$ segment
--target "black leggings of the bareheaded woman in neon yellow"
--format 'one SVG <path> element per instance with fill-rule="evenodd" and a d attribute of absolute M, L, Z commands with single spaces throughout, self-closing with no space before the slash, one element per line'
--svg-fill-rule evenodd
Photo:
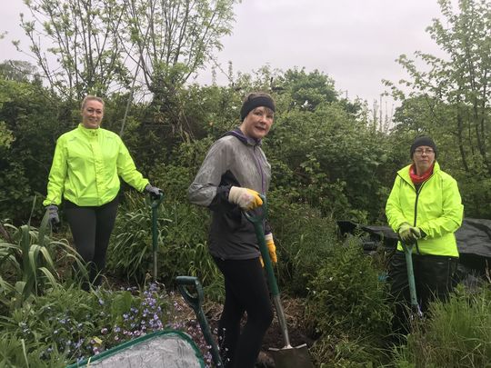
<path fill-rule="evenodd" d="M 89 265 L 89 282 L 101 283 L 105 267 L 105 253 L 115 225 L 117 197 L 101 206 L 79 206 L 65 201 L 65 215 L 70 224 L 78 254 Z M 88 289 L 88 284 L 83 283 Z"/>

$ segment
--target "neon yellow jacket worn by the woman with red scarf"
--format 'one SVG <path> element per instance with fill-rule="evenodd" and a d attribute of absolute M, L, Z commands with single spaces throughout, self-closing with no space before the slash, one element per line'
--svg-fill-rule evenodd
<path fill-rule="evenodd" d="M 456 180 L 435 163 L 433 174 L 416 193 L 407 165 L 397 172 L 396 181 L 387 199 L 386 216 L 397 232 L 401 224 L 419 227 L 426 237 L 417 241 L 414 252 L 458 257 L 454 233 L 462 224 L 464 206 Z M 402 251 L 401 244 L 397 250 Z"/>

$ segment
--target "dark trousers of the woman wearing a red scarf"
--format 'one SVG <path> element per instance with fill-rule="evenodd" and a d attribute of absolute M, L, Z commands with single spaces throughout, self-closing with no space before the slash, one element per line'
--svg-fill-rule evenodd
<path fill-rule="evenodd" d="M 446 255 L 413 254 L 416 296 L 421 311 L 426 312 L 429 302 L 434 299 L 446 301 L 452 291 L 453 276 L 458 258 Z M 394 321 L 395 333 L 408 333 L 407 308 L 410 305 L 409 283 L 407 282 L 406 256 L 397 251 L 392 257 L 389 269 L 391 294 L 396 301 Z"/>

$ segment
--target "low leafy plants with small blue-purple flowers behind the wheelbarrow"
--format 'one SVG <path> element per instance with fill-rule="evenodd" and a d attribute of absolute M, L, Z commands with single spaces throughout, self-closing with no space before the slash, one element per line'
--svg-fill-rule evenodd
<path fill-rule="evenodd" d="M 26 356 L 29 363 L 36 362 L 36 367 L 47 367 L 54 366 L 51 362 L 55 358 L 65 364 L 75 363 L 119 343 L 163 329 L 191 334 L 207 356 L 199 327 L 194 321 L 178 321 L 179 309 L 157 283 L 143 290 L 98 289 L 91 293 L 79 288 L 58 288 L 35 298 L 32 303 L 25 303 L 0 321 L 3 331 L 0 347 L 15 347 L 3 351 L 0 366 L 11 366 L 8 363 L 19 361 L 15 356 L 20 351 L 19 342 L 23 344 L 21 356 Z M 207 359 L 209 361 L 209 356 Z"/>

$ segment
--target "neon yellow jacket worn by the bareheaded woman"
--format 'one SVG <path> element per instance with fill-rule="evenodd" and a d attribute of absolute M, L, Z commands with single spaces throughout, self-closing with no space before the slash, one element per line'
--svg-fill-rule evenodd
<path fill-rule="evenodd" d="M 140 192 L 148 184 L 119 135 L 78 124 L 56 142 L 43 204 L 60 204 L 62 196 L 81 206 L 106 204 L 119 192 L 118 176 Z"/>

